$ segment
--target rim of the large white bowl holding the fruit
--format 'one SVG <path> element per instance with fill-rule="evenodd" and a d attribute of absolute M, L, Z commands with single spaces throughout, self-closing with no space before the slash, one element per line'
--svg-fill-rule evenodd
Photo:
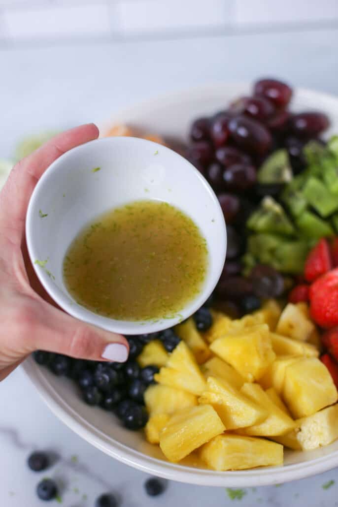
<path fill-rule="evenodd" d="M 109 125 L 113 121 L 117 123 L 120 121 L 120 118 L 125 118 L 130 113 L 134 114 L 136 110 L 141 111 L 146 107 L 155 107 L 161 104 L 163 100 L 165 100 L 166 103 L 170 103 L 176 101 L 178 98 L 184 100 L 186 97 L 191 98 L 192 95 L 198 97 L 201 93 L 221 93 L 226 89 L 233 89 L 234 87 L 238 88 L 239 92 L 242 93 L 245 92 L 249 86 L 250 82 L 244 81 L 216 81 L 214 83 L 197 85 L 194 87 L 185 87 L 172 92 L 164 92 L 156 95 L 154 98 L 136 101 L 132 105 L 117 110 L 106 122 L 98 122 L 98 126 L 99 128 L 105 128 L 106 124 Z M 296 87 L 294 89 L 294 96 L 306 96 L 311 99 L 322 98 L 326 101 L 334 102 L 338 111 L 338 96 L 333 94 Z M 123 122 L 125 122 L 125 120 L 123 120 Z M 279 467 L 253 468 L 241 472 L 215 472 L 214 470 L 193 468 L 162 461 L 147 456 L 142 452 L 130 449 L 117 441 L 114 441 L 112 445 L 110 437 L 106 436 L 97 428 L 94 428 L 62 400 L 61 396 L 44 377 L 41 367 L 33 361 L 32 357 L 28 357 L 21 366 L 25 375 L 37 388 L 46 405 L 70 429 L 75 431 L 80 437 L 91 443 L 97 449 L 102 450 L 106 454 L 129 466 L 141 469 L 148 474 L 150 473 L 165 479 L 201 486 L 254 487 L 304 479 L 327 472 L 327 470 L 338 465 L 338 451 L 334 451 L 328 456 L 321 456 L 301 463 Z M 109 445 L 107 445 L 108 440 L 110 441 Z"/>

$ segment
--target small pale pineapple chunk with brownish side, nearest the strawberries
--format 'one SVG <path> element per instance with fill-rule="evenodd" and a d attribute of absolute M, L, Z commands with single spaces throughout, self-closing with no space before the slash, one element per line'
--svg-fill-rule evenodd
<path fill-rule="evenodd" d="M 305 342 L 315 330 L 315 325 L 296 305 L 284 308 L 276 327 L 276 333 Z"/>

